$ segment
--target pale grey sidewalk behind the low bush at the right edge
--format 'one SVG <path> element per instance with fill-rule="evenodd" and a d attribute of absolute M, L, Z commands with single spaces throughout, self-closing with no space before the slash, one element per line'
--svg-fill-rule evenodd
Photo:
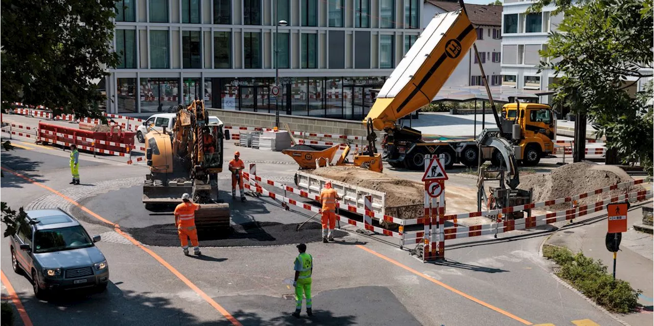
<path fill-rule="evenodd" d="M 608 221 L 606 212 L 598 212 L 583 219 L 575 219 L 574 224 L 557 225 L 547 244 L 568 247 L 573 252 L 582 251 L 587 257 L 601 259 L 613 272 L 613 253 L 606 250 L 605 237 Z M 585 221 L 585 222 L 584 222 Z M 642 209 L 632 208 L 627 215 L 628 231 L 623 233 L 620 251 L 617 253 L 615 277 L 628 281 L 634 289 L 643 291 L 640 313 L 621 316 L 630 325 L 652 325 L 654 323 L 654 236 L 634 230 L 634 223 L 642 221 Z"/>

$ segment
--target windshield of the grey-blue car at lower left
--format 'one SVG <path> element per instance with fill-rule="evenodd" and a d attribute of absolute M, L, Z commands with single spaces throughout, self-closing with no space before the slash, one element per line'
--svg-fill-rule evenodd
<path fill-rule="evenodd" d="M 51 230 L 37 230 L 34 234 L 35 253 L 48 253 L 92 246 L 93 242 L 80 225 L 67 228 L 53 228 Z"/>

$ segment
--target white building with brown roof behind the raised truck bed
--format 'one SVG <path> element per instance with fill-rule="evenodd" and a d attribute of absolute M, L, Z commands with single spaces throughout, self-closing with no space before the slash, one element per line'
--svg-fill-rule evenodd
<path fill-rule="evenodd" d="M 422 9 L 422 28 L 426 27 L 435 14 L 459 10 L 458 1 L 425 0 Z M 502 84 L 502 6 L 470 5 L 466 3 L 468 18 L 477 29 L 477 50 L 490 86 Z M 470 48 L 456 67 L 444 88 L 483 85 L 481 70 L 474 50 Z"/>

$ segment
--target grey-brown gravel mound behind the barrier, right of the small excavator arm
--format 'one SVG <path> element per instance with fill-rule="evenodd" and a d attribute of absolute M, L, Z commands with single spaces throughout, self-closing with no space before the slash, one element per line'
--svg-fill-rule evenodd
<path fill-rule="evenodd" d="M 552 170 L 549 174 L 521 176 L 520 189 L 533 189 L 533 202 L 576 196 L 617 183 L 632 181 L 627 172 L 617 166 L 577 162 Z M 629 187 L 628 192 L 643 190 L 639 185 Z M 579 200 L 579 205 L 593 204 L 606 198 L 625 194 L 625 189 L 615 189 Z M 569 203 L 549 206 L 549 210 L 570 208 Z"/>

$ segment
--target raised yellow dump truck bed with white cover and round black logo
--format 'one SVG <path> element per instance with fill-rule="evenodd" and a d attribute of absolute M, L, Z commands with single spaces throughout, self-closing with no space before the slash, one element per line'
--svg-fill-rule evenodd
<path fill-rule="evenodd" d="M 434 16 L 384 83 L 364 123 L 370 118 L 375 130 L 394 128 L 398 119 L 431 103 L 476 40 L 464 10 Z"/>

